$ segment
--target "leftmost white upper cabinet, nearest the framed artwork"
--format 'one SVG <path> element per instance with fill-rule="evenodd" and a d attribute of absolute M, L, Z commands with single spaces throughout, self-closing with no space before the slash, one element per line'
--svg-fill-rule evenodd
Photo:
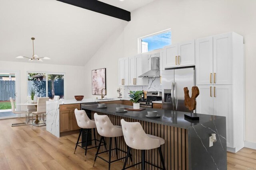
<path fill-rule="evenodd" d="M 128 86 L 129 79 L 129 58 L 118 59 L 118 84 Z"/>

